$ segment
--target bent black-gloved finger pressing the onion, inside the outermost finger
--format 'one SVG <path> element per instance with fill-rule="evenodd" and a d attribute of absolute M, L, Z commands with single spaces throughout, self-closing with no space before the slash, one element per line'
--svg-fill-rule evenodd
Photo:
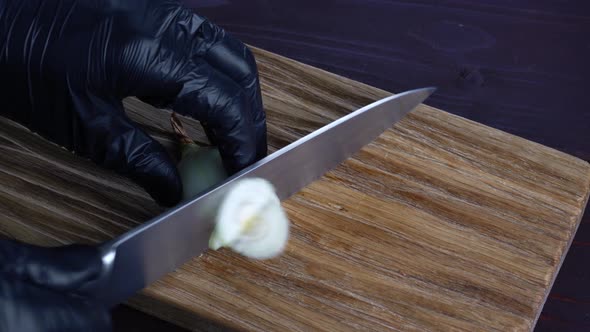
<path fill-rule="evenodd" d="M 174 111 L 201 122 L 217 145 L 226 170 L 233 174 L 256 161 L 256 131 L 250 103 L 232 79 L 202 59 L 192 61 L 182 79 Z"/>

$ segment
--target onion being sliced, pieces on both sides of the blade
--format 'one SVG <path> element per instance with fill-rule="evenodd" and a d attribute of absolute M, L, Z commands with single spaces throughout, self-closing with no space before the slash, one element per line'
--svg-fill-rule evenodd
<path fill-rule="evenodd" d="M 227 179 L 219 150 L 197 145 L 175 113 L 172 128 L 181 145 L 178 170 L 183 199 L 191 199 Z M 280 255 L 289 238 L 289 219 L 272 184 L 264 179 L 236 181 L 222 198 L 209 247 L 229 248 L 252 259 Z"/>

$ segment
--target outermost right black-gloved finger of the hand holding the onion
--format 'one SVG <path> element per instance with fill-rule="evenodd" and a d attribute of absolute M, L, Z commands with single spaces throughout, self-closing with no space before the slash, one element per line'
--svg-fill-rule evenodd
<path fill-rule="evenodd" d="M 193 50 L 193 58 L 203 58 L 244 90 L 250 103 L 250 116 L 256 131 L 257 158 L 265 157 L 267 154 L 266 114 L 262 104 L 254 55 L 245 44 L 208 20 L 201 24 L 195 37 L 198 46 Z"/>

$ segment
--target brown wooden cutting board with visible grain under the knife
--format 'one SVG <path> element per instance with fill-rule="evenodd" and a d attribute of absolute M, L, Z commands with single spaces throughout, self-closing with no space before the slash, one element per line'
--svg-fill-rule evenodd
<path fill-rule="evenodd" d="M 389 95 L 255 52 L 271 151 Z M 169 112 L 126 106 L 174 153 Z M 0 182 L 0 232 L 29 243 L 97 243 L 162 212 L 130 181 L 6 119 Z M 284 202 L 282 257 L 208 252 L 129 304 L 193 330 L 531 330 L 589 190 L 582 160 L 420 106 Z"/>

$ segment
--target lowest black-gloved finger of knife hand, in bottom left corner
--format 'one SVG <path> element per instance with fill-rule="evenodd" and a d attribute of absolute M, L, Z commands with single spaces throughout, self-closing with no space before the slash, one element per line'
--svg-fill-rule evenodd
<path fill-rule="evenodd" d="M 0 331 L 111 331 L 108 311 L 87 299 L 0 276 Z"/>

